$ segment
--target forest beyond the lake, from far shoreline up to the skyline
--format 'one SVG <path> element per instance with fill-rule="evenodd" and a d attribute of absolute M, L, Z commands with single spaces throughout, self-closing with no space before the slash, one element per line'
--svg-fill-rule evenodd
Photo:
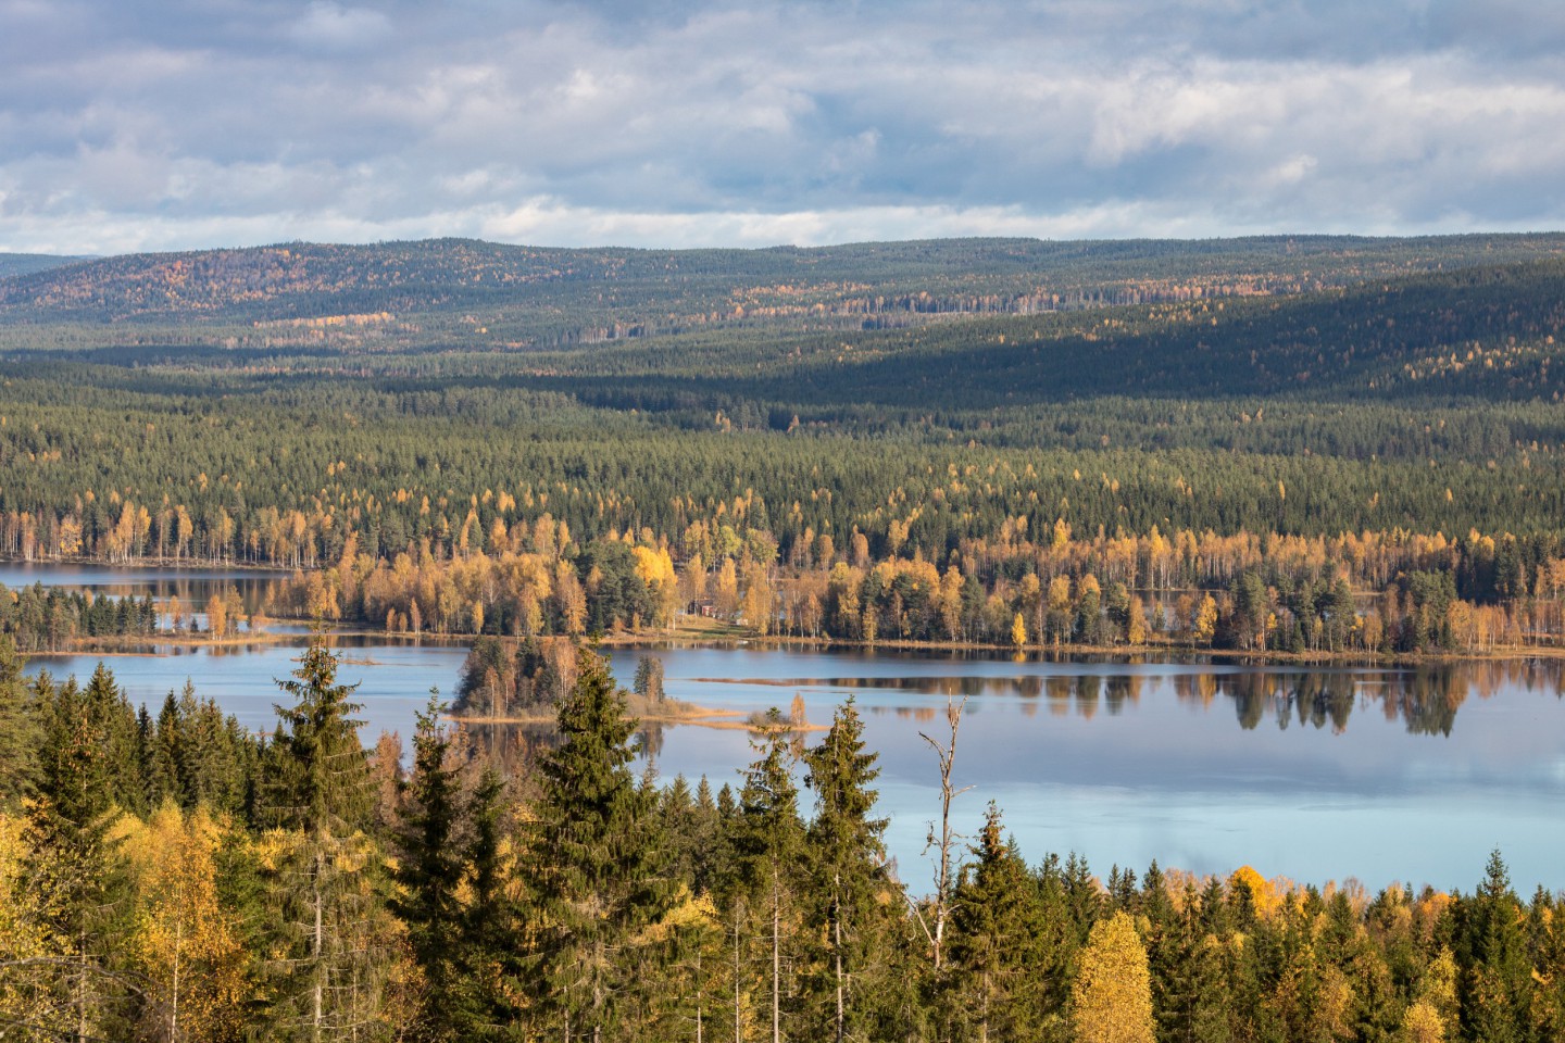
<path fill-rule="evenodd" d="M 277 613 L 394 630 L 1556 644 L 1562 246 L 64 264 L 0 278 L 0 554 L 300 569 Z M 610 305 L 635 336 L 582 335 Z"/>

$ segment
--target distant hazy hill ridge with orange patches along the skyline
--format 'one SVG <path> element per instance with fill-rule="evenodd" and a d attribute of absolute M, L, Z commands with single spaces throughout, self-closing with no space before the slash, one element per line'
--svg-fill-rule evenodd
<path fill-rule="evenodd" d="M 0 261 L 0 322 L 365 322 L 382 313 L 459 319 L 488 310 L 485 325 L 552 342 L 718 321 L 862 325 L 1302 292 L 1549 256 L 1565 256 L 1565 235 L 944 239 L 765 250 L 285 244 L 31 272 Z M 424 327 L 434 333 L 441 324 Z"/>

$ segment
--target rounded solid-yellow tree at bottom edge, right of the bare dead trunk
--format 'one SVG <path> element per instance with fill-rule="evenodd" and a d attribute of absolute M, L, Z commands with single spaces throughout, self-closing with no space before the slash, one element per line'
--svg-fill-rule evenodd
<path fill-rule="evenodd" d="M 1070 1023 L 1077 1043 L 1152 1043 L 1147 949 L 1125 913 L 1092 926 L 1075 984 Z"/>

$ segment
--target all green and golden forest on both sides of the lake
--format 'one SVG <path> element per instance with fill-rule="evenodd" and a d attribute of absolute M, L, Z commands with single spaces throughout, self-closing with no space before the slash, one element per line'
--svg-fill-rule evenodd
<path fill-rule="evenodd" d="M 1502 852 L 1368 893 L 992 807 L 909 884 L 851 702 L 654 785 L 592 641 L 1548 654 L 1560 338 L 1562 236 L 0 256 L 0 558 L 280 569 L 556 721 L 366 751 L 315 641 L 257 735 L 22 674 L 167 605 L 0 591 L 0 1037 L 1562 1040 Z"/>

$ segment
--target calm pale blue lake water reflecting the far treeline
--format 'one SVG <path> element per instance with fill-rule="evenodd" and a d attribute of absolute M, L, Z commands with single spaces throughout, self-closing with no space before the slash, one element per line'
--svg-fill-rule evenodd
<path fill-rule="evenodd" d="M 113 579 L 105 574 L 133 582 L 106 569 L 56 575 L 103 585 Z M 34 568 L 27 582 L 34 579 L 45 577 Z M 202 583 L 230 579 L 177 582 L 205 597 Z M 9 583 L 5 572 L 0 582 Z M 343 677 L 363 682 L 368 741 L 380 729 L 408 735 L 413 708 L 432 685 L 452 691 L 465 654 L 430 641 L 343 643 Z M 133 699 L 161 701 L 188 677 L 263 727 L 279 697 L 272 680 L 294 655 L 254 646 L 110 665 Z M 995 801 L 1033 862 L 1077 851 L 1100 874 L 1157 858 L 1197 873 L 1250 863 L 1297 880 L 1471 890 L 1498 846 L 1520 890 L 1565 887 L 1565 701 L 1554 663 L 1302 671 L 662 647 L 613 652 L 621 682 L 637 655 L 659 655 L 668 693 L 704 707 L 786 710 L 798 696 L 808 718 L 825 724 L 853 696 L 880 754 L 887 843 L 916 890 L 931 874 L 920 852 L 939 782 L 919 733 L 944 738 L 945 701 L 962 696 L 956 782 L 973 790 L 958 799 L 959 827 L 975 832 Z M 95 663 L 39 657 L 33 669 L 88 674 Z M 664 777 L 737 785 L 754 757 L 742 730 L 664 727 L 651 740 Z"/>

